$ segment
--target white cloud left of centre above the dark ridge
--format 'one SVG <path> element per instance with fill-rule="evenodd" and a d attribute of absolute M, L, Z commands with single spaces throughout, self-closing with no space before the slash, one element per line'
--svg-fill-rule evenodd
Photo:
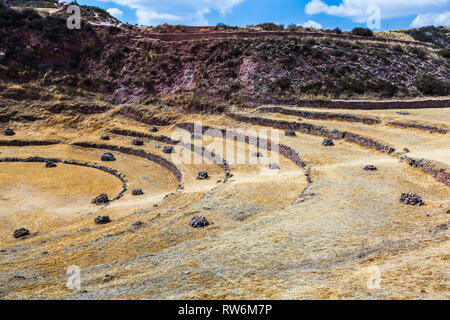
<path fill-rule="evenodd" d="M 206 25 L 212 10 L 224 15 L 245 0 L 101 0 L 112 1 L 136 10 L 137 23 Z"/>

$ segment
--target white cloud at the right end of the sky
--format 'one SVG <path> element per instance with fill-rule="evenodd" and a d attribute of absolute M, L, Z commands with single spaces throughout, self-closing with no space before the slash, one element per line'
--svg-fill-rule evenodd
<path fill-rule="evenodd" d="M 410 15 L 436 14 L 448 8 L 450 0 L 342 0 L 339 5 L 327 5 L 321 0 L 311 0 L 305 6 L 309 15 L 325 13 L 331 16 L 346 17 L 363 23 L 371 15 L 370 6 L 378 6 L 382 19 L 406 17 Z M 446 8 L 446 9 L 447 9 Z"/>

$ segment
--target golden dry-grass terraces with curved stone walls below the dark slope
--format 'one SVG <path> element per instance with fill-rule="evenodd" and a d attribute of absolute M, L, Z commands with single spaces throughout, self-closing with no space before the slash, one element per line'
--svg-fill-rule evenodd
<path fill-rule="evenodd" d="M 8 123 L 2 299 L 449 297 L 449 109 L 267 105 L 174 114 L 154 132 L 155 118 L 120 108 Z M 203 125 L 194 135 L 193 123 Z M 106 152 L 115 161 L 101 161 Z M 112 201 L 92 204 L 102 193 Z M 193 228 L 194 217 L 213 224 Z M 19 228 L 30 234 L 14 238 Z M 74 265 L 80 290 L 66 285 Z"/>

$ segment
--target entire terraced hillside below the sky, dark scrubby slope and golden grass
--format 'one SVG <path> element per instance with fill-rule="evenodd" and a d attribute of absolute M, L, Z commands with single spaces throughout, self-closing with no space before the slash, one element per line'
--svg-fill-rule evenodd
<path fill-rule="evenodd" d="M 0 299 L 450 298 L 441 29 L 91 9 L 0 4 Z"/>

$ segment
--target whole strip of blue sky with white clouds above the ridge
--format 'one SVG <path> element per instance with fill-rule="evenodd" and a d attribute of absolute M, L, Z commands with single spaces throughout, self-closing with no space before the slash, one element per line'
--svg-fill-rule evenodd
<path fill-rule="evenodd" d="M 450 25 L 450 0 L 78 0 L 110 12 L 123 22 L 158 25 L 245 26 L 264 22 L 350 30 L 406 29 Z M 367 10 L 370 9 L 370 12 Z M 380 21 L 377 25 L 375 22 Z"/>

